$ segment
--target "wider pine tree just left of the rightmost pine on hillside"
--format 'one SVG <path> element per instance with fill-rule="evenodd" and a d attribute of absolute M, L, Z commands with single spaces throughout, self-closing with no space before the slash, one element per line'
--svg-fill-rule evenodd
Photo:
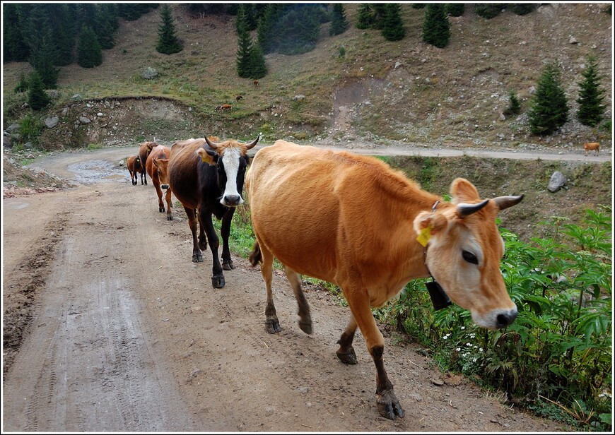
<path fill-rule="evenodd" d="M 561 87 L 560 71 L 554 64 L 545 66 L 528 112 L 529 131 L 548 135 L 566 124 L 568 103 Z"/>

